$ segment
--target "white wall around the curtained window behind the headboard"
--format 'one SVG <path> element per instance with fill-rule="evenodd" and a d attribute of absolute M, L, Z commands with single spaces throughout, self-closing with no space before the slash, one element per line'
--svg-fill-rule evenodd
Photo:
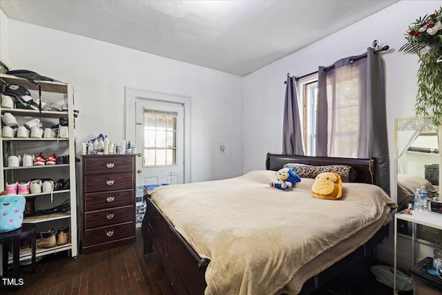
<path fill-rule="evenodd" d="M 408 25 L 420 16 L 434 12 L 439 6 L 441 1 L 400 1 L 244 77 L 243 170 L 263 169 L 267 153 L 282 151 L 282 112 L 287 73 L 301 76 L 314 72 L 318 66 L 329 66 L 340 58 L 360 55 L 374 39 L 378 39 L 382 46 L 390 46 L 390 50 L 382 55 L 385 60 L 387 130 L 393 176 L 394 118 L 414 115 L 418 69 L 417 56 L 398 53 L 398 49 L 405 44 L 404 33 Z M 287 30 L 287 38 L 296 38 L 296 30 Z M 395 198 L 393 177 L 391 184 L 392 197 Z M 385 260 L 392 263 L 392 235 L 384 244 Z M 403 247 L 408 244 L 405 242 Z M 404 249 L 402 253 L 410 252 Z M 431 253 L 427 255 L 432 256 Z"/>

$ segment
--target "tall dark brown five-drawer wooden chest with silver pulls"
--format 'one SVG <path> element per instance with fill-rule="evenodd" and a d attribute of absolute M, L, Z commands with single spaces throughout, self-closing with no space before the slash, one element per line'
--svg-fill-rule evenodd
<path fill-rule="evenodd" d="M 135 155 L 83 155 L 83 254 L 135 242 Z"/>

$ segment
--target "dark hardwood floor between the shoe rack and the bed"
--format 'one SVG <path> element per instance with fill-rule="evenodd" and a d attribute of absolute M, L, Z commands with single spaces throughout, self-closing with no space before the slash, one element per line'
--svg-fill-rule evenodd
<path fill-rule="evenodd" d="M 95 254 L 67 258 L 66 252 L 46 256 L 37 273 L 23 267 L 23 285 L 15 291 L 1 282 L 1 294 L 165 294 L 174 295 L 171 281 L 155 252 L 143 255 L 136 242 Z"/>

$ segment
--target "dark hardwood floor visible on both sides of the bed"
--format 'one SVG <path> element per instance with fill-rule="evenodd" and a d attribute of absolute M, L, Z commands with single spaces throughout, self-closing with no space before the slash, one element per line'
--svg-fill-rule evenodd
<path fill-rule="evenodd" d="M 143 255 L 141 232 L 135 244 L 95 254 L 68 258 L 66 252 L 37 262 L 37 273 L 22 267 L 23 285 L 12 290 L 0 282 L 1 294 L 164 294 L 174 295 L 173 286 L 155 252 Z M 362 260 L 312 295 L 390 295 L 393 289 L 378 283 L 369 272 L 370 261 Z M 401 292 L 402 295 L 412 292 Z"/>

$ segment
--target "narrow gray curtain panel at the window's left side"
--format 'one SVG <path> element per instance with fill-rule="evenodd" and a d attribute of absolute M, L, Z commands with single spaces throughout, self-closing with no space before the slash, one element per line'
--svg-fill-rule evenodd
<path fill-rule="evenodd" d="M 285 86 L 284 122 L 282 125 L 282 154 L 305 155 L 299 120 L 298 95 L 294 77 L 287 76 Z"/>

